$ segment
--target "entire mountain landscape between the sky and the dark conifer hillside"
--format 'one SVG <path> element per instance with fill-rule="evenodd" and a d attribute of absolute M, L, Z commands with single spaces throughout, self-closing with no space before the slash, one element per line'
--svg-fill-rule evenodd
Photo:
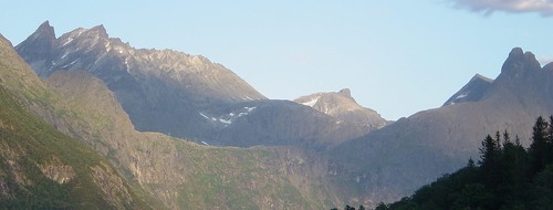
<path fill-rule="evenodd" d="M 553 113 L 553 65 L 520 48 L 497 78 L 390 122 L 351 90 L 269 99 L 207 57 L 135 49 L 103 25 L 56 36 L 46 21 L 0 44 L 0 202 L 13 208 L 376 207 L 478 158 L 495 130 L 528 146 Z"/>

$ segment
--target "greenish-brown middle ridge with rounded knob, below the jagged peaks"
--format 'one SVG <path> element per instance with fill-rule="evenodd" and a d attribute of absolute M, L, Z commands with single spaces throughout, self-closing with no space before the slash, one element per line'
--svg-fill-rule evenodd
<path fill-rule="evenodd" d="M 289 148 L 217 148 L 134 130 L 114 95 L 85 72 L 59 72 L 49 86 L 75 137 L 109 158 L 137 187 L 174 209 L 325 209 L 336 201 L 313 156 Z M 69 111 L 69 112 L 67 112 Z M 310 164 L 307 164 L 310 162 Z M 325 201 L 326 200 L 326 201 Z"/>

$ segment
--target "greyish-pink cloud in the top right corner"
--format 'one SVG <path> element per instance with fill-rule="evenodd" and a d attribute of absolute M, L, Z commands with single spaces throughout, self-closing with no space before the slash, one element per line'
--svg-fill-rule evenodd
<path fill-rule="evenodd" d="M 553 0 L 451 0 L 456 7 L 473 12 L 491 14 L 494 11 L 512 13 L 538 12 L 543 17 L 553 15 Z"/>

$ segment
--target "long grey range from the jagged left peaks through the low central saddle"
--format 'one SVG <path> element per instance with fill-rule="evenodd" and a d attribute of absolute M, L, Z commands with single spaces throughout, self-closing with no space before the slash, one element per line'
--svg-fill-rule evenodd
<path fill-rule="evenodd" d="M 364 127 L 378 127 L 384 120 L 374 113 L 374 119 L 361 122 L 361 127 L 336 124 L 335 116 L 267 99 L 230 70 L 206 57 L 134 49 L 109 38 L 103 25 L 56 38 L 46 21 L 15 50 L 41 77 L 56 71 L 84 70 L 101 78 L 138 130 L 197 143 L 325 149 L 364 135 Z"/>

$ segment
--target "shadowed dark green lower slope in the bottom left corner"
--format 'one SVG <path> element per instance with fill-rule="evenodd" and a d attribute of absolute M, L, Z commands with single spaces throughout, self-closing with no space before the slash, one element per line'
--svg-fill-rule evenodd
<path fill-rule="evenodd" d="M 122 185 L 109 164 L 80 141 L 30 114 L 0 86 L 0 206 L 8 209 L 147 208 Z M 50 168 L 49 168 L 50 167 Z M 94 169 L 104 183 L 98 183 Z M 109 186 L 112 187 L 112 186 Z M 123 193 L 127 192 L 127 193 Z"/>

